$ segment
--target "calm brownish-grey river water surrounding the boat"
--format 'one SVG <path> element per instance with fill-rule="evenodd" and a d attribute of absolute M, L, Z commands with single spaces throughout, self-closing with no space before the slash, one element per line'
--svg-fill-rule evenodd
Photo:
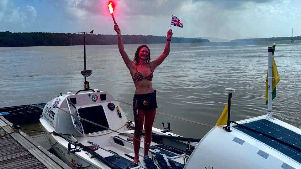
<path fill-rule="evenodd" d="M 215 125 L 228 100 L 224 89 L 230 87 L 235 89 L 231 120 L 266 114 L 267 48 L 272 43 L 171 44 L 170 55 L 155 70 L 152 81 L 157 90 L 157 110 Z M 281 80 L 273 101 L 275 117 L 300 128 L 301 44 L 276 44 Z M 138 46 L 125 45 L 131 59 Z M 148 46 L 151 60 L 164 48 L 164 44 Z M 87 78 L 90 87 L 131 103 L 135 87 L 117 45 L 90 45 L 86 49 L 87 69 L 93 70 Z M 76 92 L 84 86 L 80 73 L 84 69 L 83 46 L 72 46 L 72 59 L 70 46 L 0 48 L 0 63 L 0 107 L 48 102 L 59 93 Z M 133 119 L 131 106 L 120 106 Z M 182 136 L 202 138 L 210 130 L 162 115 L 156 115 L 154 127 L 162 128 L 161 122 L 168 121 L 172 132 Z"/>

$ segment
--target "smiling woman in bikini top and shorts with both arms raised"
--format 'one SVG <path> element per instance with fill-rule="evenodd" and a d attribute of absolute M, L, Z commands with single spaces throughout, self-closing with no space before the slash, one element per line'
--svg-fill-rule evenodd
<path fill-rule="evenodd" d="M 163 53 L 158 59 L 150 62 L 150 49 L 146 45 L 139 46 L 134 60 L 129 59 L 126 54 L 121 39 L 121 32 L 119 26 L 114 25 L 114 30 L 118 35 L 118 49 L 124 60 L 124 63 L 129 69 L 132 75 L 136 90 L 133 102 L 133 112 L 135 118 L 135 135 L 134 138 L 140 140 L 143 120 L 145 118 L 144 130 L 145 138 L 144 141 L 148 144 L 144 144 L 144 155 L 148 156 L 148 150 L 150 148 L 151 141 L 151 130 L 153 122 L 155 120 L 157 101 L 156 101 L 156 90 L 153 89 L 151 80 L 153 79 L 153 72 L 156 67 L 159 66 L 163 60 L 168 56 L 170 51 L 170 41 L 172 37 L 172 30 L 169 29 L 167 32 L 166 45 Z M 138 112 L 137 112 L 138 111 Z M 134 139 L 134 162 L 138 163 L 139 160 L 139 149 L 140 141 Z M 147 157 L 145 157 L 147 158 Z"/>

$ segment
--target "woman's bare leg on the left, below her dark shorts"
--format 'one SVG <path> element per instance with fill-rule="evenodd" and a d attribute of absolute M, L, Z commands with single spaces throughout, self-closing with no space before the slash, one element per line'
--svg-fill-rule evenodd
<path fill-rule="evenodd" d="M 145 115 L 145 111 L 138 109 L 138 126 L 135 126 L 135 128 L 136 127 L 139 128 L 139 131 L 138 131 L 139 135 L 136 136 L 134 134 L 134 141 L 133 141 L 134 142 L 134 153 L 135 153 L 134 162 L 135 163 L 138 163 L 138 160 L 139 160 L 140 141 L 138 141 L 138 140 L 140 140 L 140 138 L 141 138 L 141 133 L 142 133 L 142 129 L 143 129 L 144 115 Z M 136 139 L 138 139 L 138 140 L 136 140 Z"/>

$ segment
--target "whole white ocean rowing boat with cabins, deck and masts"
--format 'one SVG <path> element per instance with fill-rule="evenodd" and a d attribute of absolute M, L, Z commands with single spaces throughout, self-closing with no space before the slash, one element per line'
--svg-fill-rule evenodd
<path fill-rule="evenodd" d="M 268 50 L 268 84 L 272 86 L 273 50 L 271 47 Z M 82 74 L 88 77 L 92 71 L 85 70 Z M 171 133 L 170 129 L 162 131 L 153 127 L 149 156 L 155 168 L 149 168 L 142 160 L 143 144 L 140 161 L 138 164 L 132 162 L 135 125 L 126 118 L 114 97 L 107 91 L 86 87 L 88 85 L 76 94 L 68 93 L 50 100 L 40 118 L 42 129 L 49 133 L 45 134 L 47 141 L 72 168 L 301 168 L 301 130 L 272 117 L 270 88 L 268 115 L 237 122 L 230 121 L 230 100 L 234 90 L 227 89 L 227 125 L 215 126 L 201 141 L 181 137 Z M 79 93 L 81 91 L 86 93 Z M 143 137 L 141 141 L 144 141 Z"/>

